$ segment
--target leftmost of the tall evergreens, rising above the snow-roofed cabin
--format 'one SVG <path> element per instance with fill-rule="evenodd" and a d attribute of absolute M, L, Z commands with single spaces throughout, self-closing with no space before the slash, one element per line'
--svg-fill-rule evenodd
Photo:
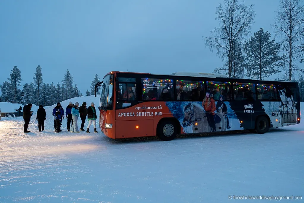
<path fill-rule="evenodd" d="M 9 102 L 18 103 L 21 97 L 21 90 L 19 90 L 18 88 L 18 86 L 20 86 L 20 83 L 22 81 L 21 71 L 19 70 L 19 68 L 17 68 L 17 66 L 14 66 L 9 76 L 10 76 L 10 78 L 8 78 L 8 80 L 10 81 Z"/>

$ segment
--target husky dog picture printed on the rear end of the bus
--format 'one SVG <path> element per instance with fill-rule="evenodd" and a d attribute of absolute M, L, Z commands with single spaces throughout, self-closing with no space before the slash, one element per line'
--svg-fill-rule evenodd
<path fill-rule="evenodd" d="M 281 98 L 281 108 L 280 108 L 280 124 L 283 123 L 296 123 L 297 122 L 297 109 L 296 103 L 293 100 L 293 96 L 286 96 L 286 89 L 279 90 L 279 95 Z"/>

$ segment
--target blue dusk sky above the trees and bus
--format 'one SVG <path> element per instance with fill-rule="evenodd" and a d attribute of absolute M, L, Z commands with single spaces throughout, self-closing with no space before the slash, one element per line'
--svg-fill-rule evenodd
<path fill-rule="evenodd" d="M 224 62 L 202 36 L 219 26 L 219 3 L 223 0 L 0 1 L 0 83 L 15 65 L 22 86 L 33 82 L 37 65 L 46 83 L 61 83 L 69 69 L 83 94 L 95 74 L 102 79 L 109 71 L 212 72 Z M 252 35 L 261 27 L 273 33 L 279 1 L 245 1 L 250 4 L 256 12 Z"/>

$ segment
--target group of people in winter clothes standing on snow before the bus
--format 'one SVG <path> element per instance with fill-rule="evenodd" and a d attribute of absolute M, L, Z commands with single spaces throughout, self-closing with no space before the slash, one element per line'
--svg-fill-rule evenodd
<path fill-rule="evenodd" d="M 23 119 L 24 119 L 24 132 L 29 133 L 28 131 L 28 125 L 30 118 L 32 116 L 31 108 L 32 104 L 29 103 L 26 106 L 23 107 Z M 91 103 L 91 106 L 87 108 L 87 103 L 82 103 L 82 105 L 79 107 L 79 103 L 76 102 L 73 104 L 73 102 L 69 102 L 69 105 L 65 109 L 65 115 L 64 115 L 64 109 L 61 106 L 60 102 L 57 103 L 57 106 L 54 107 L 52 115 L 54 117 L 54 130 L 55 133 L 59 133 L 62 130 L 60 129 L 60 126 L 62 125 L 62 120 L 64 120 L 64 117 L 67 119 L 67 131 L 69 132 L 80 132 L 85 131 L 84 125 L 86 117 L 88 117 L 88 127 L 86 132 L 90 133 L 89 128 L 93 123 L 94 126 L 94 132 L 97 133 L 96 128 L 96 109 L 94 102 Z M 81 118 L 81 127 L 80 131 L 78 129 L 78 117 Z M 37 110 L 37 116 L 36 120 L 38 121 L 38 130 L 44 131 L 44 121 L 46 120 L 46 111 L 43 108 L 43 106 L 40 104 L 39 109 Z M 71 127 L 70 127 L 71 126 Z"/>

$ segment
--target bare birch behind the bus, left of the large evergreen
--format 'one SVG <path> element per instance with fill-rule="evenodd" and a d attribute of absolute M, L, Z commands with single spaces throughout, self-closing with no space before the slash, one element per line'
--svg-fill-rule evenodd
<path fill-rule="evenodd" d="M 217 50 L 217 55 L 222 60 L 228 61 L 226 72 L 229 78 L 233 76 L 233 49 L 240 47 L 245 41 L 245 37 L 250 34 L 250 29 L 254 23 L 255 13 L 253 5 L 249 7 L 240 4 L 237 0 L 225 0 L 224 6 L 219 4 L 216 8 L 216 20 L 219 20 L 220 27 L 210 31 L 213 37 L 202 37 L 206 41 L 206 46 Z M 226 65 L 224 65 L 226 66 Z"/>

